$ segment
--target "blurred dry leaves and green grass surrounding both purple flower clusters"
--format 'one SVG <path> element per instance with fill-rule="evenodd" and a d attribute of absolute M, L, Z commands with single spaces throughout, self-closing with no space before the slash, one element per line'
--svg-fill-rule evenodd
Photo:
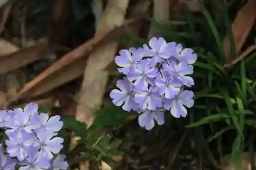
<path fill-rule="evenodd" d="M 0 1 L 0 103 L 62 116 L 70 169 L 255 169 L 254 0 Z M 195 50 L 195 106 L 151 131 L 113 106 L 113 59 L 151 37 Z"/>

